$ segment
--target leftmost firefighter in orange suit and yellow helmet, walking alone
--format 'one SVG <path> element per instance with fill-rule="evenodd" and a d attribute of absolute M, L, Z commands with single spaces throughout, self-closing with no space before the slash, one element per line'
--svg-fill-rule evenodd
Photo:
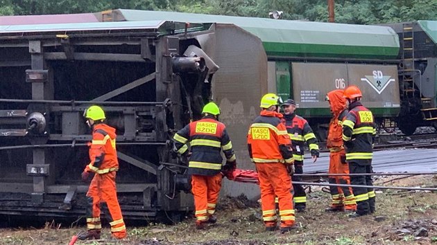
<path fill-rule="evenodd" d="M 115 175 L 119 170 L 117 152 L 115 150 L 115 129 L 103 123 L 105 112 L 101 107 L 93 105 L 85 110 L 83 115 L 87 125 L 92 128 L 92 142 L 89 145 L 89 158 L 91 162 L 82 173 L 83 181 L 87 181 L 90 173 L 94 177 L 87 192 L 88 207 L 87 233 L 78 239 L 100 239 L 101 232 L 101 203 L 108 206 L 110 212 L 110 226 L 112 237 L 123 239 L 126 237 L 126 226 L 115 186 Z"/>

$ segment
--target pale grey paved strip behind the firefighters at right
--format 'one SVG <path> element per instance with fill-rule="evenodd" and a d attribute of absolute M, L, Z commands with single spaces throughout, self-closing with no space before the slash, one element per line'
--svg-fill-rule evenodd
<path fill-rule="evenodd" d="M 309 156 L 304 161 L 304 172 L 327 172 L 329 153 L 320 154 L 316 163 Z M 375 172 L 436 172 L 436 149 L 392 149 L 374 152 L 372 166 Z"/>

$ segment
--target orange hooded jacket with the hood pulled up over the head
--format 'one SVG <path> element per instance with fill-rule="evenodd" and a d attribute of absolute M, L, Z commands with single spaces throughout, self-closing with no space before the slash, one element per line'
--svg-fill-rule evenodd
<path fill-rule="evenodd" d="M 343 120 L 348 116 L 346 99 L 343 98 L 343 90 L 336 89 L 327 93 L 332 118 L 329 122 L 329 132 L 326 147 L 331 152 L 339 152 L 343 149 Z"/>

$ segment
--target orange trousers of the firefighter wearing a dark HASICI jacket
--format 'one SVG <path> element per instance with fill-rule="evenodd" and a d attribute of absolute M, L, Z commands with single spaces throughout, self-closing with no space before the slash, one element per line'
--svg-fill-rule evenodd
<path fill-rule="evenodd" d="M 196 206 L 196 223 L 208 221 L 209 216 L 216 212 L 222 179 L 221 173 L 213 176 L 191 175 L 191 192 L 194 195 L 194 206 Z"/>

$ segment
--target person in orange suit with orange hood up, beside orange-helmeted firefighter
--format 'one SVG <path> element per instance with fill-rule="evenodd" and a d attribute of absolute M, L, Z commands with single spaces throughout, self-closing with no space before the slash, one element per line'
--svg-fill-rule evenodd
<path fill-rule="evenodd" d="M 343 90 L 330 91 L 327 93 L 326 100 L 329 102 L 332 113 L 326 144 L 329 149 L 329 174 L 349 174 L 349 164 L 346 162 L 342 138 L 343 119 L 348 115 Z M 350 177 L 348 175 L 329 176 L 329 183 L 350 185 Z M 357 210 L 352 188 L 330 186 L 329 189 L 331 190 L 332 203 L 331 207 L 326 209 L 327 212 Z"/>

